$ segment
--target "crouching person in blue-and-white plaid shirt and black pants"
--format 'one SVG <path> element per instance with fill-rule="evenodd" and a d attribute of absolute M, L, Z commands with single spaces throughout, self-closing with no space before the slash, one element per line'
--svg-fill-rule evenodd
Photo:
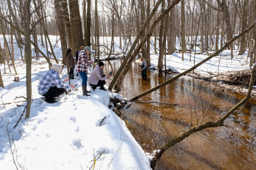
<path fill-rule="evenodd" d="M 52 69 L 48 71 L 38 84 L 38 93 L 44 96 L 44 101 L 47 103 L 55 103 L 55 97 L 64 94 L 65 89 L 73 89 L 74 85 L 65 85 L 64 82 L 68 78 L 61 80 L 60 75 L 64 65 L 53 64 Z"/>

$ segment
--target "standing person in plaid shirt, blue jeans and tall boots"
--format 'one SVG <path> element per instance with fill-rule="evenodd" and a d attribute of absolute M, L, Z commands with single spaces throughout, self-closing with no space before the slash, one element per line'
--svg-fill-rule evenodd
<path fill-rule="evenodd" d="M 93 64 L 93 60 L 91 59 L 88 61 L 89 54 L 91 53 L 90 47 L 84 47 L 84 50 L 80 51 L 78 62 L 76 66 L 76 72 L 79 73 L 82 79 L 82 91 L 84 96 L 90 96 L 90 91 L 87 91 L 87 74 L 88 74 L 88 67 Z"/>

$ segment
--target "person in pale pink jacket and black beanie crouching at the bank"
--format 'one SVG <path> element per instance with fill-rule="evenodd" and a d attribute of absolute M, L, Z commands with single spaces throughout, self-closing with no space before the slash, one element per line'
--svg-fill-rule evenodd
<path fill-rule="evenodd" d="M 108 74 L 108 76 L 104 75 L 104 63 L 102 61 L 99 62 L 99 65 L 96 65 L 93 72 L 90 74 L 90 77 L 88 79 L 88 83 L 91 86 L 93 90 L 95 90 L 97 87 L 100 87 L 101 90 L 106 90 L 104 88 L 104 85 L 106 84 L 105 80 L 111 77 L 112 74 Z"/>

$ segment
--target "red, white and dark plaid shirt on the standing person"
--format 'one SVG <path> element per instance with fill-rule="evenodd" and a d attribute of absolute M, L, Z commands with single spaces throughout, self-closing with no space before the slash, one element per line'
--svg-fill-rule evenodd
<path fill-rule="evenodd" d="M 91 62 L 88 61 L 86 52 L 84 50 L 81 51 L 78 57 L 77 65 L 76 65 L 76 73 L 78 73 L 79 71 L 88 73 L 88 67 L 90 66 L 90 64 Z"/>

